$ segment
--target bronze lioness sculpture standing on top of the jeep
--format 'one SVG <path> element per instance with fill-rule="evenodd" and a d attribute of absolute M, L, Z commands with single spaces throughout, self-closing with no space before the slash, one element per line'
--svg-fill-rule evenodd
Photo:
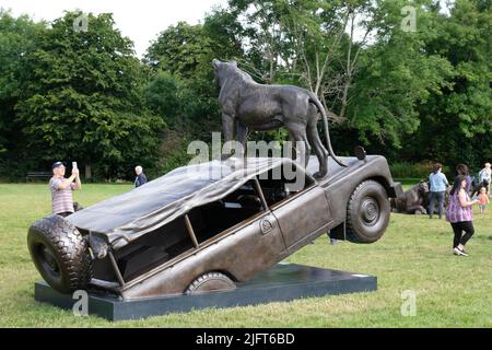
<path fill-rule="evenodd" d="M 215 81 L 221 88 L 219 103 L 222 110 L 224 141 L 231 141 L 234 126 L 237 128 L 237 141 L 245 147 L 249 130 L 270 130 L 284 126 L 290 139 L 296 141 L 298 155 L 304 158 L 305 166 L 313 148 L 319 171 L 315 177 L 325 177 L 328 173 L 328 154 L 341 166 L 331 148 L 328 118 L 321 103 L 312 92 L 293 85 L 265 85 L 237 68 L 235 61 L 212 61 Z M 319 139 L 316 127 L 318 113 L 323 117 L 327 149 Z"/>

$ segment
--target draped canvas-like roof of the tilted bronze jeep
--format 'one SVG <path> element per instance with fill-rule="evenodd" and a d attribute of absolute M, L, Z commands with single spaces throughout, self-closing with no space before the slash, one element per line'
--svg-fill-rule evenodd
<path fill-rule="evenodd" d="M 248 158 L 178 167 L 126 194 L 69 217 L 82 230 L 103 233 L 114 248 L 159 229 L 179 215 L 233 192 L 247 180 L 279 165 L 285 158 Z M 292 167 L 291 167 L 292 168 Z M 297 171 L 304 172 L 301 167 Z"/>

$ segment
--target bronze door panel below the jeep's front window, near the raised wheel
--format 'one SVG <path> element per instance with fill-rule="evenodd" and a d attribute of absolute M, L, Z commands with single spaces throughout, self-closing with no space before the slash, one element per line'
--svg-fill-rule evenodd
<path fill-rule="evenodd" d="M 271 208 L 288 249 L 332 220 L 325 191 L 313 185 Z"/>

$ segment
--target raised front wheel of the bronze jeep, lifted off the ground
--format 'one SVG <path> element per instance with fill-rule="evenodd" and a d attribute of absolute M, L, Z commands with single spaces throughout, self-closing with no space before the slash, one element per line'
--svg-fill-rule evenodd
<path fill-rule="evenodd" d="M 382 237 L 389 223 L 390 206 L 384 187 L 375 180 L 359 184 L 347 207 L 347 240 L 373 243 Z"/>

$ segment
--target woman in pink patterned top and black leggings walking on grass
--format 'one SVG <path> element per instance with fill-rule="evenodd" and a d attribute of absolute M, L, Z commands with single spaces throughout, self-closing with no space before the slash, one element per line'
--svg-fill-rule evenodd
<path fill-rule="evenodd" d="M 446 220 L 449 221 L 455 237 L 453 240 L 453 254 L 468 256 L 465 245 L 475 233 L 472 206 L 478 200 L 470 200 L 465 190 L 467 179 L 464 175 L 455 178 L 453 188 L 449 192 L 449 206 L 446 209 Z"/>

